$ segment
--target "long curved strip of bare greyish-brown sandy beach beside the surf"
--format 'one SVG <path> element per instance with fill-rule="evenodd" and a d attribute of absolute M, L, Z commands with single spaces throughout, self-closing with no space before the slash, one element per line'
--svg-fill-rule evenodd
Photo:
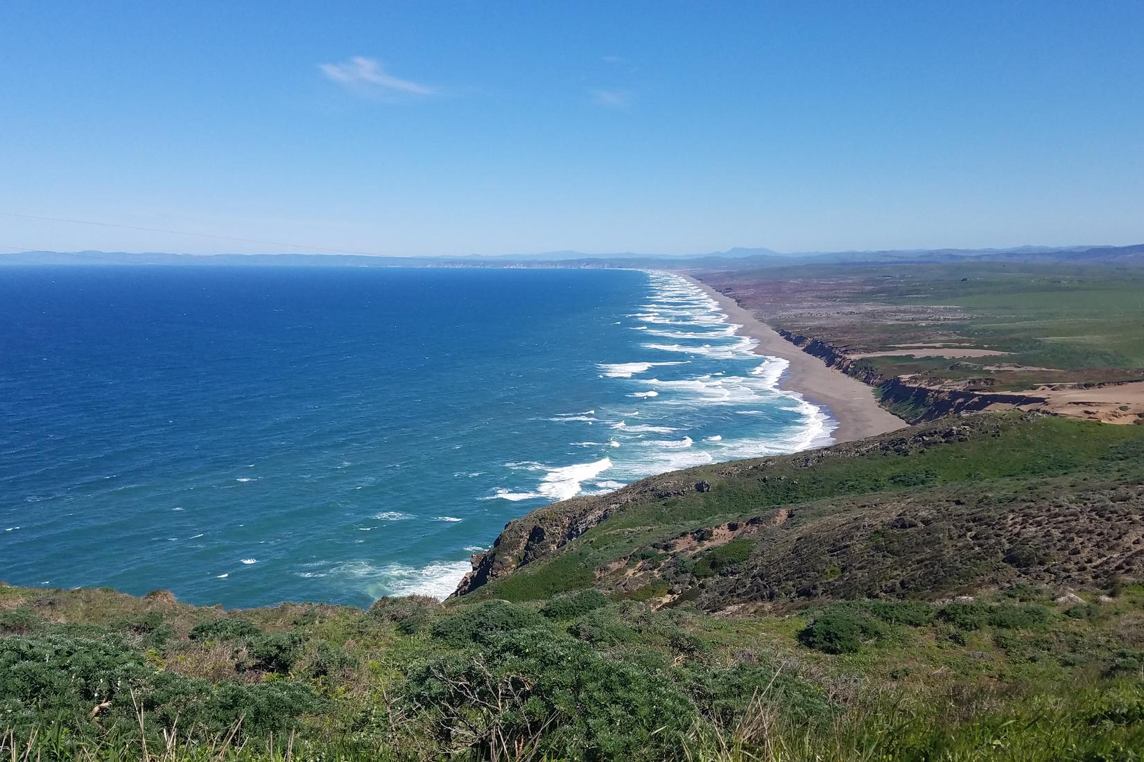
<path fill-rule="evenodd" d="M 755 353 L 781 358 L 791 363 L 779 380 L 779 388 L 796 392 L 809 402 L 825 407 L 826 412 L 839 424 L 832 434 L 835 443 L 852 442 L 909 425 L 879 406 L 874 399 L 874 390 L 869 386 L 828 368 L 818 358 L 791 344 L 731 297 L 720 294 L 688 273 L 676 271 L 675 274 L 715 299 L 728 319 L 739 326 L 737 336 L 747 336 L 758 342 L 754 347 Z"/>

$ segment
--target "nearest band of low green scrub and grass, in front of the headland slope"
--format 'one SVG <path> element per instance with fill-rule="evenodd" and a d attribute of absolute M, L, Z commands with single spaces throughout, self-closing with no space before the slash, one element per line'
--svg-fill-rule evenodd
<path fill-rule="evenodd" d="M 1144 588 L 1118 593 L 712 617 L 582 591 L 221 616 L 0 587 L 0 745 L 172 762 L 1131 760 Z"/>

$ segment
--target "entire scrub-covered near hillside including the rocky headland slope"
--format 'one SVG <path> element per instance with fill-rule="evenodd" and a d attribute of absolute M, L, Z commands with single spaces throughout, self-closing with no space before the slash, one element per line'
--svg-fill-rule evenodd
<path fill-rule="evenodd" d="M 3 753 L 1139 759 L 1142 468 L 960 418 L 555 504 L 445 604 L 0 587 Z"/>

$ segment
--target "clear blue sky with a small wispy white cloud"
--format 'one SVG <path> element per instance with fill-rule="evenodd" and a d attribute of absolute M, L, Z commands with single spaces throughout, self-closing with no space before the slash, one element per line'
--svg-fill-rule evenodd
<path fill-rule="evenodd" d="M 9 0 L 0 211 L 389 255 L 1141 242 L 1142 33 L 1136 0 Z"/>

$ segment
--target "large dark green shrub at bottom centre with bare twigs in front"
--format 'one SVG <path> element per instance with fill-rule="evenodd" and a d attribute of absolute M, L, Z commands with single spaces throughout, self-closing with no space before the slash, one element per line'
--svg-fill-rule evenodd
<path fill-rule="evenodd" d="M 668 680 L 548 629 L 415 666 L 402 708 L 438 743 L 507 757 L 651 762 L 677 753 L 694 709 Z"/>

